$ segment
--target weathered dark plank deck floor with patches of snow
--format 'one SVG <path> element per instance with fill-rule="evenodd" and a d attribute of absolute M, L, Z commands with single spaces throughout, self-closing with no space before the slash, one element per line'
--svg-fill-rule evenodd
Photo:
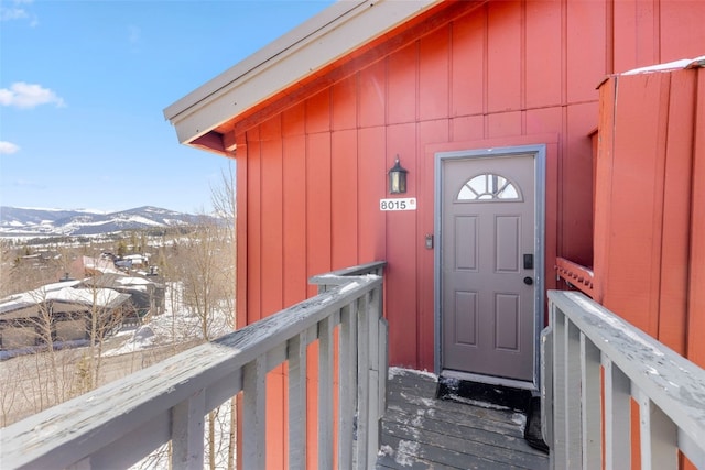
<path fill-rule="evenodd" d="M 435 398 L 431 374 L 392 369 L 377 469 L 549 468 L 523 439 L 525 416 Z"/>

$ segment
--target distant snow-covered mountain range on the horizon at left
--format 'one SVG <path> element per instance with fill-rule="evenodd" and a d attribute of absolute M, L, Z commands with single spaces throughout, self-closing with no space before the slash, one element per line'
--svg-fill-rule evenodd
<path fill-rule="evenodd" d="M 177 227 L 200 216 L 144 206 L 119 212 L 0 206 L 0 237 L 90 236 L 123 230 Z"/>

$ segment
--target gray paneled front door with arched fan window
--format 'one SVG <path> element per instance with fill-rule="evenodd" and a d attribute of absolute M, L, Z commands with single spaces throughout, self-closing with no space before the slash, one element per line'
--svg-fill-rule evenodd
<path fill-rule="evenodd" d="M 533 381 L 534 155 L 441 163 L 442 369 Z"/>

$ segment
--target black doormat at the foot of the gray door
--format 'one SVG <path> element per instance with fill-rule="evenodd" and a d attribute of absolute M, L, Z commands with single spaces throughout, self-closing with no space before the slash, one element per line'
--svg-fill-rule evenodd
<path fill-rule="evenodd" d="M 436 398 L 468 405 L 494 405 L 513 409 L 527 415 L 524 439 L 534 449 L 549 452 L 541 436 L 541 400 L 531 391 L 501 385 L 490 385 L 441 375 L 436 387 Z"/>

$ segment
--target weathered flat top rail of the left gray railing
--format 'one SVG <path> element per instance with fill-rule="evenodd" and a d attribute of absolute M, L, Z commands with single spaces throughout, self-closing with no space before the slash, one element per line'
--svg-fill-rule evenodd
<path fill-rule="evenodd" d="M 382 283 L 375 275 L 346 281 L 276 315 L 8 426 L 0 436 L 2 459 L 22 467 L 51 452 L 52 467 L 63 468 L 91 455 L 119 437 L 106 423 L 122 433 L 139 428 Z"/>

